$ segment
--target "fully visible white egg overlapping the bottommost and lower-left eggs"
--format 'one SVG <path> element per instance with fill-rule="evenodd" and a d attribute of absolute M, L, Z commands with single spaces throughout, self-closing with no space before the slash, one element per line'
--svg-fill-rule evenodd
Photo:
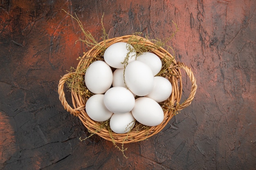
<path fill-rule="evenodd" d="M 104 104 L 113 113 L 121 114 L 132 110 L 135 104 L 133 94 L 124 87 L 112 87 L 104 95 Z"/>

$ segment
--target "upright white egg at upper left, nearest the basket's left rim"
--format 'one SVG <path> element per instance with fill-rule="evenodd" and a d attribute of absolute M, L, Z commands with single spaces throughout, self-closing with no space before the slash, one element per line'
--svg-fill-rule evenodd
<path fill-rule="evenodd" d="M 108 64 L 95 61 L 85 72 L 85 86 L 94 94 L 105 93 L 112 85 L 113 73 Z"/>

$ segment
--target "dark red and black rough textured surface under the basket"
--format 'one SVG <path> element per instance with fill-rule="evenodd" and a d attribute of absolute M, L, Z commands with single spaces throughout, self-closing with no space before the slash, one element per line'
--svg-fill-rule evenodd
<path fill-rule="evenodd" d="M 167 45 L 192 69 L 197 93 L 157 135 L 125 144 L 128 159 L 97 135 L 80 141 L 87 129 L 58 99 L 59 79 L 90 49 L 62 9 L 98 42 L 103 13 L 110 38 L 180 29 Z M 0 169 L 255 170 L 255 9 L 254 0 L 2 0 Z"/>

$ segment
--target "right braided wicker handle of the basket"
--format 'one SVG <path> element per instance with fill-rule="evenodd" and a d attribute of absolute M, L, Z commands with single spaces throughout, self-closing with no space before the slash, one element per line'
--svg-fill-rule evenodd
<path fill-rule="evenodd" d="M 175 106 L 175 110 L 182 110 L 183 108 L 186 108 L 187 106 L 189 106 L 191 104 L 192 100 L 194 99 L 195 92 L 196 92 L 196 89 L 197 89 L 197 84 L 196 84 L 196 79 L 194 77 L 194 74 L 191 71 L 191 68 L 189 68 L 188 66 L 186 66 L 184 63 L 181 63 L 181 62 L 177 63 L 177 67 L 182 68 L 184 71 L 186 71 L 186 74 L 189 76 L 189 79 L 190 79 L 191 84 L 192 84 L 191 92 L 189 94 L 189 97 L 182 104 L 177 104 Z"/>

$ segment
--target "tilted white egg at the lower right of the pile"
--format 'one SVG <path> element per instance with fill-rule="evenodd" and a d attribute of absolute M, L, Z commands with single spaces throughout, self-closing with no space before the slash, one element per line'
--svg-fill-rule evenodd
<path fill-rule="evenodd" d="M 164 120 L 164 111 L 153 99 L 139 97 L 135 100 L 132 116 L 146 126 L 157 126 Z"/>

